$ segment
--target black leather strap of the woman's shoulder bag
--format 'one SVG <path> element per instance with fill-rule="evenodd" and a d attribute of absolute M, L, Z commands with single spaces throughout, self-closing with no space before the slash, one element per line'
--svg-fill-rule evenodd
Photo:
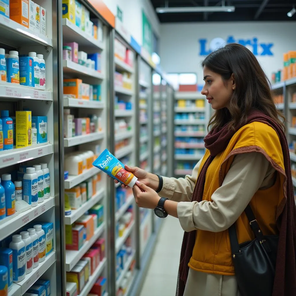
<path fill-rule="evenodd" d="M 259 227 L 259 224 L 255 218 L 255 215 L 252 211 L 252 208 L 250 205 L 247 205 L 247 207 L 245 208 L 244 212 L 247 215 L 247 218 L 249 220 L 250 226 L 252 231 L 255 234 L 255 237 L 258 239 L 258 241 L 260 242 L 260 244 L 262 244 L 263 242 L 265 242 L 263 233 Z M 229 229 L 229 239 L 230 239 L 230 245 L 231 245 L 231 252 L 232 253 L 239 253 L 239 243 L 238 243 L 238 239 L 237 239 L 237 231 L 236 231 L 236 227 L 235 227 L 235 223 L 233 223 Z M 267 251 L 269 250 L 269 246 L 268 244 L 265 244 L 265 247 L 267 249 Z"/>

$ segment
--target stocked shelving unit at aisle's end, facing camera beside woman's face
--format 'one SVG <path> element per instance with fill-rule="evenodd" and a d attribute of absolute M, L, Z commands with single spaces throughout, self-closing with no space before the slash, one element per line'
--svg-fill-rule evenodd
<path fill-rule="evenodd" d="M 191 174 L 204 154 L 210 110 L 200 92 L 176 92 L 174 105 L 174 174 L 180 177 Z"/>

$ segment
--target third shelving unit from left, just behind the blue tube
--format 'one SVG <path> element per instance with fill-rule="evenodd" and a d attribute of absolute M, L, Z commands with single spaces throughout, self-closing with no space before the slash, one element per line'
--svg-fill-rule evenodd
<path fill-rule="evenodd" d="M 139 151 L 136 149 L 138 126 L 136 126 L 136 112 L 137 112 L 137 103 L 136 103 L 136 90 L 138 86 L 137 78 L 137 60 L 136 53 L 131 48 L 131 46 L 125 41 L 125 39 L 120 36 L 119 33 L 115 34 L 114 40 L 114 155 L 122 163 L 127 165 L 136 165 L 137 158 L 139 157 Z M 120 48 L 125 49 L 124 53 L 127 51 L 127 54 L 130 57 L 129 63 L 125 59 L 125 55 L 120 52 Z M 122 76 L 121 76 L 122 75 Z M 122 81 L 120 81 L 120 78 Z M 113 151 L 112 149 L 112 151 Z M 123 190 L 118 188 L 118 186 L 112 185 L 114 189 L 114 194 L 112 200 L 116 202 L 116 195 Z M 114 188 L 115 187 L 115 188 Z M 124 190 L 126 191 L 126 190 Z M 123 224 L 123 215 L 128 211 L 128 208 L 132 208 L 132 219 L 123 233 L 116 231 Z M 129 247 L 132 247 L 132 255 L 128 258 L 125 267 L 118 274 L 116 273 L 116 263 L 111 266 L 114 268 L 115 276 L 112 276 L 111 279 L 111 294 L 115 295 L 118 292 L 118 289 L 123 287 L 124 279 L 126 278 L 127 272 L 131 268 L 132 263 L 136 260 L 136 250 L 138 248 L 138 231 L 137 231 L 137 211 L 136 204 L 132 192 L 126 193 L 126 200 L 123 205 L 116 211 L 115 219 L 112 219 L 111 229 L 114 233 L 118 235 L 115 236 L 115 248 L 114 248 L 114 257 L 116 258 L 118 252 L 129 244 Z M 112 216 L 111 216 L 112 217 Z M 121 236 L 119 236 L 121 235 Z M 131 286 L 133 277 L 129 279 L 129 285 Z M 125 287 L 126 288 L 126 287 Z M 128 288 L 127 288 L 128 293 Z"/>

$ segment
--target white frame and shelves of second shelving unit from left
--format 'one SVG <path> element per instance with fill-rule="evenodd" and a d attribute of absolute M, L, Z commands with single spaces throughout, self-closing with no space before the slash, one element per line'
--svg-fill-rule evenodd
<path fill-rule="evenodd" d="M 68 136 L 63 139 L 64 143 L 64 159 L 67 162 L 67 155 L 76 151 L 92 150 L 95 155 L 100 153 L 105 147 L 110 148 L 108 142 L 108 100 L 110 96 L 110 85 L 109 85 L 109 67 L 110 67 L 110 27 L 101 16 L 93 10 L 87 1 L 81 1 L 81 3 L 90 11 L 90 17 L 99 19 L 102 23 L 102 35 L 98 34 L 98 39 L 93 36 L 88 36 L 86 32 L 82 31 L 76 24 L 73 24 L 68 19 L 62 19 L 62 41 L 64 43 L 76 42 L 78 43 L 78 50 L 86 52 L 87 54 L 99 53 L 101 54 L 101 69 L 93 70 L 87 68 L 84 65 L 79 65 L 76 62 L 63 60 L 62 70 L 63 78 L 79 78 L 82 79 L 83 83 L 91 85 L 101 86 L 101 96 L 99 100 L 86 100 L 78 99 L 71 95 L 63 95 L 63 107 L 70 109 L 70 114 L 74 118 L 85 118 L 90 115 L 96 115 L 97 118 L 101 118 L 101 126 L 98 126 L 96 131 L 93 133 L 81 135 L 81 136 Z M 64 115 L 65 116 L 65 115 Z M 64 125 L 66 125 L 64 121 Z M 101 258 L 99 266 L 96 268 L 93 274 L 91 274 L 89 281 L 81 291 L 80 295 L 88 295 L 91 288 L 93 287 L 99 276 L 108 278 L 110 264 L 109 258 L 109 239 L 108 239 L 108 186 L 106 174 L 100 173 L 98 168 L 92 167 L 85 169 L 83 173 L 79 175 L 72 175 L 73 171 L 69 170 L 69 177 L 64 181 L 64 188 L 72 189 L 75 186 L 79 186 L 83 181 L 88 181 L 97 178 L 100 174 L 99 186 L 96 192 L 93 192 L 92 197 L 83 203 L 80 207 L 75 210 L 71 210 L 70 215 L 64 217 L 65 227 L 68 227 L 81 218 L 91 207 L 97 204 L 101 204 L 104 207 L 104 222 L 97 228 L 94 229 L 94 235 L 90 240 L 87 240 L 79 251 L 65 250 L 65 272 L 71 271 L 73 267 L 81 260 L 82 256 L 90 249 L 92 244 L 99 238 L 104 238 L 106 243 L 106 257 Z M 64 214 L 65 215 L 65 214 Z M 67 229 L 67 228 L 66 228 Z M 108 288 L 107 288 L 108 291 Z"/>

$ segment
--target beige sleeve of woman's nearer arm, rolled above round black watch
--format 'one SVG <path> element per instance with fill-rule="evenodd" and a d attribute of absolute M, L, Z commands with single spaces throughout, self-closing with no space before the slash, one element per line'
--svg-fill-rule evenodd
<path fill-rule="evenodd" d="M 228 229 L 242 214 L 258 189 L 274 182 L 274 168 L 259 152 L 236 155 L 212 201 L 179 202 L 178 218 L 184 231 L 219 232 Z"/>

